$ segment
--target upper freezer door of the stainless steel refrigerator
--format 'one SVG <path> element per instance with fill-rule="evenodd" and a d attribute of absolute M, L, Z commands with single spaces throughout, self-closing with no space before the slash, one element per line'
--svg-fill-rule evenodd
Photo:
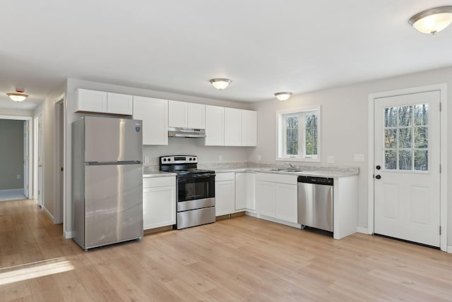
<path fill-rule="evenodd" d="M 85 116 L 85 162 L 143 160 L 142 121 Z"/>

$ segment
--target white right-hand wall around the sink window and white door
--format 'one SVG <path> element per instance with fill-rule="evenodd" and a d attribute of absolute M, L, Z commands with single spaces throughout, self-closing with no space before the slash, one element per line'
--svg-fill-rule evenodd
<path fill-rule="evenodd" d="M 321 105 L 321 165 L 359 167 L 359 227 L 367 228 L 367 177 L 368 171 L 368 97 L 371 93 L 400 90 L 409 87 L 447 83 L 452 87 L 452 68 L 403 75 L 396 78 L 376 80 L 329 90 L 293 95 L 287 102 L 268 100 L 254 103 L 251 109 L 258 111 L 258 147 L 251 152 L 251 160 L 257 161 L 261 155 L 263 163 L 275 163 L 275 111 L 299 107 Z M 447 99 L 448 121 L 452 121 L 452 94 Z M 448 123 L 448 133 L 452 123 Z M 447 142 L 452 150 L 452 140 Z M 366 162 L 353 162 L 354 154 L 364 154 Z M 333 164 L 326 163 L 326 157 L 334 157 Z M 311 164 L 316 165 L 316 164 Z M 447 171 L 452 171 L 452 161 L 448 161 Z M 448 178 L 448 188 L 452 188 L 452 178 Z M 451 194 L 452 191 L 449 193 Z M 452 242 L 452 203 L 448 205 L 448 242 Z"/>

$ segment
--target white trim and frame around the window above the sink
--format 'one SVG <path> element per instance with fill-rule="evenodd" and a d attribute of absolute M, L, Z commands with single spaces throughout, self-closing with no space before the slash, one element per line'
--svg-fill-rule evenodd
<path fill-rule="evenodd" d="M 283 128 L 283 115 L 284 114 L 306 114 L 309 111 L 317 112 L 317 156 L 316 157 L 285 157 L 283 155 L 283 149 L 281 148 L 283 145 L 284 135 L 282 135 Z M 321 106 L 314 107 L 303 107 L 303 108 L 294 108 L 294 109 L 284 109 L 278 110 L 275 112 L 275 131 L 276 131 L 276 140 L 275 140 L 275 159 L 277 161 L 283 162 L 321 162 Z M 299 137 L 305 142 L 305 134 L 304 131 L 302 135 Z M 306 150 L 303 149 L 303 153 Z M 304 156 L 304 155 L 303 155 Z"/>

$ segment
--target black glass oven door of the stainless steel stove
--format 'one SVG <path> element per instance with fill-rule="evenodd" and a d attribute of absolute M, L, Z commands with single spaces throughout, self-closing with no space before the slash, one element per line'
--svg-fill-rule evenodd
<path fill-rule="evenodd" d="M 177 176 L 177 202 L 215 197 L 215 174 Z"/>

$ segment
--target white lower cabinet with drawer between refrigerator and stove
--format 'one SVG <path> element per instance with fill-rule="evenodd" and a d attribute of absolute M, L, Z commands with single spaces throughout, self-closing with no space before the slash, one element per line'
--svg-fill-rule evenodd
<path fill-rule="evenodd" d="M 143 229 L 176 224 L 176 176 L 143 179 Z"/>

